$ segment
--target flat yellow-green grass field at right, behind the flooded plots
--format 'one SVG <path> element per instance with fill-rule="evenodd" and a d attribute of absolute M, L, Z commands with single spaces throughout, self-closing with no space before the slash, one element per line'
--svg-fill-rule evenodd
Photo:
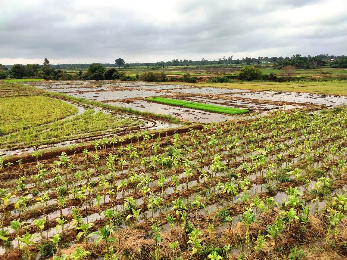
<path fill-rule="evenodd" d="M 164 83 L 191 85 L 198 87 L 220 87 L 250 90 L 276 90 L 291 92 L 307 92 L 316 94 L 347 95 L 347 81 L 293 81 L 293 82 L 235 82 L 235 83 Z"/>

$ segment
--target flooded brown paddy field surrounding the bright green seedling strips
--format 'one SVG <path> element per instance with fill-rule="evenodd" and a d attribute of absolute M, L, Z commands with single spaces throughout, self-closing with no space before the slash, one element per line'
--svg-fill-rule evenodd
<path fill-rule="evenodd" d="M 66 81 L 65 84 L 64 82 L 52 81 L 51 83 L 36 82 L 28 84 L 53 92 L 61 92 L 74 97 L 82 97 L 103 102 L 108 105 L 132 108 L 142 112 L 172 115 L 179 119 L 201 123 L 220 122 L 227 119 L 243 119 L 246 118 L 248 114 L 232 116 L 215 112 L 206 112 L 149 102 L 146 101 L 145 98 L 161 96 L 209 105 L 248 109 L 251 111 L 250 116 L 266 113 L 271 110 L 286 109 L 286 106 L 290 105 L 290 103 L 295 103 L 290 99 L 284 100 L 280 96 L 273 101 L 271 101 L 271 98 L 269 98 L 269 100 L 265 100 L 266 98 L 264 98 L 264 101 L 262 99 L 255 101 L 254 98 L 251 98 L 253 97 L 252 95 L 261 95 L 261 92 L 252 92 L 251 90 L 245 89 L 199 87 L 198 85 L 186 86 L 116 81 Z M 305 104 L 303 104 L 303 106 L 305 106 Z"/>

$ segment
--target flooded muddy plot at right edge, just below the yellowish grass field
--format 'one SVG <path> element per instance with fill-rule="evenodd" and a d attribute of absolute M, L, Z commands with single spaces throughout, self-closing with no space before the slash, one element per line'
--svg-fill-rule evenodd
<path fill-rule="evenodd" d="M 347 97 L 345 96 L 320 95 L 299 92 L 262 91 L 233 94 L 231 96 L 271 101 L 319 104 L 325 105 L 327 107 L 334 107 L 338 105 L 347 104 Z"/>

